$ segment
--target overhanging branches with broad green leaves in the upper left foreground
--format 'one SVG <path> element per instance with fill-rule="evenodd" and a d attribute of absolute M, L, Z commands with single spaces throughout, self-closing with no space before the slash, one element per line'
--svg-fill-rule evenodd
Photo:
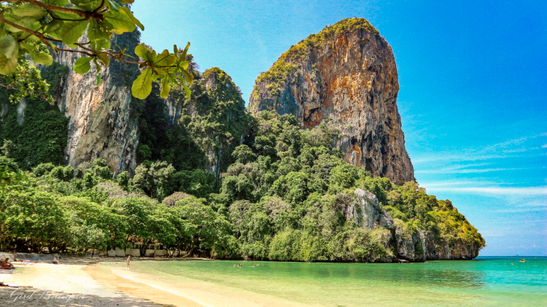
<path fill-rule="evenodd" d="M 28 64 L 26 56 L 34 63 L 51 65 L 50 50 L 82 54 L 73 69 L 84 74 L 93 63 L 97 67 L 97 85 L 101 82 L 100 71 L 111 60 L 138 65 L 142 73 L 131 88 L 138 99 L 149 96 L 152 81 L 158 79 L 161 97 L 166 98 L 173 86 L 184 87 L 190 96 L 186 86 L 193 80 L 186 60 L 190 43 L 183 50 L 175 45 L 173 53 L 167 49 L 157 53 L 140 44 L 135 47 L 139 60 L 128 56 L 125 49 L 116 50 L 111 46 L 113 35 L 133 32 L 137 26 L 141 30 L 145 28 L 128 8 L 132 3 L 133 0 L 1 1 L 0 74 L 5 76 L 4 87 L 18 89 L 18 94 L 11 96 L 12 101 L 47 92 L 47 84 L 39 71 Z M 43 97 L 47 98 L 45 94 Z"/>

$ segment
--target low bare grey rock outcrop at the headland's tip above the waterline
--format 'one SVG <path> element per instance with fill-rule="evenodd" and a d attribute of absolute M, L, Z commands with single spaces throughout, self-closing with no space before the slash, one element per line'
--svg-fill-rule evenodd
<path fill-rule="evenodd" d="M 391 246 L 395 253 L 381 261 L 426 261 L 426 260 L 469 260 L 479 256 L 480 247 L 465 244 L 460 239 L 449 244 L 436 240 L 432 232 L 417 228 L 410 230 L 402 220 L 394 220 L 379 206 L 378 199 L 371 192 L 355 190 L 355 201 L 345 208 L 346 220 L 354 220 L 366 230 L 383 228 L 391 231 Z"/>

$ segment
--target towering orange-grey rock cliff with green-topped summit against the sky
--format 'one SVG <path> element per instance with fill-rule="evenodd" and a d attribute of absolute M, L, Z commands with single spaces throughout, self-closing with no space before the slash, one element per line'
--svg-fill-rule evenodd
<path fill-rule="evenodd" d="M 393 51 L 367 20 L 328 26 L 292 46 L 257 77 L 249 111 L 292 113 L 302 126 L 339 132 L 345 161 L 397 184 L 414 180 L 397 108 Z"/>

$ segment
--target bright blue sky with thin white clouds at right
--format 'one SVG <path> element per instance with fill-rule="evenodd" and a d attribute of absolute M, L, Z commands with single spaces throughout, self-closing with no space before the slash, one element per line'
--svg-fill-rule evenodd
<path fill-rule="evenodd" d="M 137 0 L 142 41 L 190 41 L 248 101 L 311 33 L 367 18 L 393 48 L 415 177 L 486 238 L 481 256 L 547 256 L 547 1 Z"/>

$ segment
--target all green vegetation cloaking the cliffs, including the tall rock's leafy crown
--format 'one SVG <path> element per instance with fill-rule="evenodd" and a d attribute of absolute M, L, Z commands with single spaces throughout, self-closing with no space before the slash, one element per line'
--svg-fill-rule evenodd
<path fill-rule="evenodd" d="M 257 82 L 271 80 L 267 89 L 278 95 L 280 84 L 297 77 L 297 61 L 350 31 L 379 37 L 364 19 L 342 20 L 291 47 Z M 113 43 L 125 49 L 138 37 L 126 32 Z M 412 253 L 426 254 L 412 240 L 424 234 L 448 253 L 484 246 L 450 201 L 345 163 L 332 148 L 337 132 L 326 125 L 302 129 L 294 115 L 275 112 L 252 118 L 229 75 L 219 68 L 200 74 L 192 56 L 186 60 L 191 94 L 174 87 L 165 99 L 165 84 L 151 82 L 146 99 L 131 101 L 139 165 L 116 177 L 100 158 L 75 169 L 60 165 L 68 119 L 54 106 L 28 99 L 24 117 L 14 105 L 2 107 L 0 251 L 17 244 L 20 251 L 138 246 L 144 253 L 147 244 L 161 244 L 214 258 L 391 261 L 407 257 L 400 238 Z M 116 85 L 136 73 L 123 63 L 110 69 Z M 51 90 L 66 71 L 56 64 L 44 70 Z M 360 225 L 352 214 L 356 189 L 374 194 L 393 227 Z"/>

